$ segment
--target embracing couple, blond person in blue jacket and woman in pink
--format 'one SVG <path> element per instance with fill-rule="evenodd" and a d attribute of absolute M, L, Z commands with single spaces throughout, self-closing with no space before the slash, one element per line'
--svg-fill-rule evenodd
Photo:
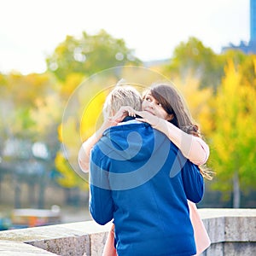
<path fill-rule="evenodd" d="M 90 169 L 90 214 L 113 221 L 104 248 L 112 255 L 199 255 L 210 245 L 195 203 L 204 194 L 209 148 L 172 84 L 144 94 L 116 86 L 104 122 L 79 151 Z"/>

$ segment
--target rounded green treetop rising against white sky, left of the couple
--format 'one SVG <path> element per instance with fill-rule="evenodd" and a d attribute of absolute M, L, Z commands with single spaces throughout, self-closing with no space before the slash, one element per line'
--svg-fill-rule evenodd
<path fill-rule="evenodd" d="M 104 30 L 92 36 L 83 32 L 81 38 L 67 36 L 46 62 L 49 71 L 62 81 L 68 73 L 90 76 L 106 68 L 140 63 L 123 39 L 113 38 Z"/>

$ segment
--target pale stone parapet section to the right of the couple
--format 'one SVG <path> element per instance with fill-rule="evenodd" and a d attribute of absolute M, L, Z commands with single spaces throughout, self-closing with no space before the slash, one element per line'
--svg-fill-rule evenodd
<path fill-rule="evenodd" d="M 212 241 L 203 256 L 256 255 L 256 209 L 199 209 Z"/>

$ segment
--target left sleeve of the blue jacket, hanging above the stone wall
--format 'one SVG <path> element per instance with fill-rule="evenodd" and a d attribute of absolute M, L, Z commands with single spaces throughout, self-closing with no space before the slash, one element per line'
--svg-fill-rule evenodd
<path fill-rule="evenodd" d="M 91 217 L 97 224 L 107 224 L 113 219 L 113 199 L 108 184 L 108 172 L 102 168 L 98 148 L 93 148 L 90 158 L 90 200 Z"/>

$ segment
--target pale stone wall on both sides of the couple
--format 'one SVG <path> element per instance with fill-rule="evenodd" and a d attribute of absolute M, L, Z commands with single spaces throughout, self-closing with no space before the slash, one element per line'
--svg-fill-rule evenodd
<path fill-rule="evenodd" d="M 256 209 L 200 209 L 211 238 L 203 256 L 256 255 Z M 93 221 L 0 232 L 0 255 L 102 255 L 111 224 Z"/>

